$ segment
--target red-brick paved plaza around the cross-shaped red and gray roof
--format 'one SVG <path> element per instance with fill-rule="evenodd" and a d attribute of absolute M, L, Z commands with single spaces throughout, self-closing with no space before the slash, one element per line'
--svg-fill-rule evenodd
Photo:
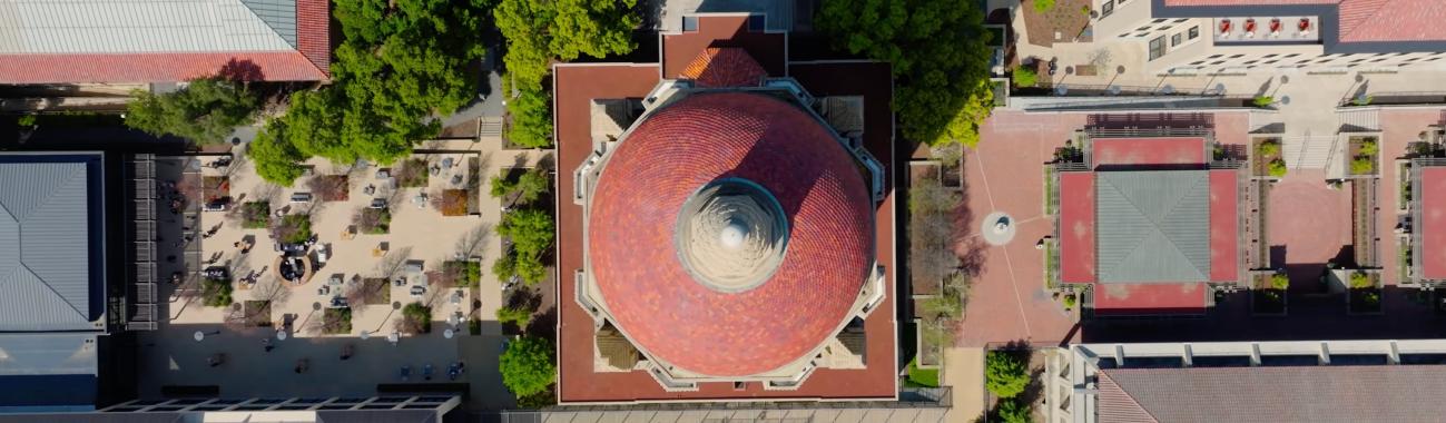
<path fill-rule="evenodd" d="M 1382 111 L 1381 154 L 1390 160 L 1403 154 L 1429 124 L 1442 120 L 1440 110 Z M 1267 198 L 1268 245 L 1272 267 L 1285 267 L 1304 282 L 1293 282 L 1288 315 L 1257 318 L 1249 310 L 1249 293 L 1216 296 L 1203 318 L 1193 319 L 1092 319 L 1076 325 L 1044 287 L 1044 254 L 1034 244 L 1051 232 L 1044 215 L 1044 163 L 1073 131 L 1087 124 L 1084 114 L 1024 114 L 996 111 L 982 127 L 982 143 L 964 156 L 966 212 L 959 254 L 973 273 L 970 295 L 959 328 L 957 344 L 983 346 L 1011 341 L 1034 345 L 1063 342 L 1171 342 L 1242 339 L 1388 339 L 1442 338 L 1446 325 L 1429 305 L 1411 292 L 1395 289 L 1397 270 L 1385 266 L 1384 315 L 1349 316 L 1340 296 L 1317 296 L 1306 290 L 1330 258 L 1351 245 L 1351 192 L 1332 191 L 1319 170 L 1296 170 L 1278 182 Z M 1213 115 L 1215 140 L 1244 146 L 1248 115 Z M 1096 152 L 1098 153 L 1098 152 Z M 1168 163 L 1168 160 L 1165 160 Z M 1388 163 L 1388 162 L 1387 162 Z M 1395 183 L 1395 167 L 1381 166 L 1381 183 Z M 1395 206 L 1391 189 L 1378 189 L 1381 209 L 1378 257 L 1395 257 L 1392 234 Z M 1244 199 L 1242 199 L 1244 201 Z M 982 219 L 991 212 L 1009 214 L 1017 235 L 1005 245 L 989 245 L 979 237 Z M 1063 235 L 1063 234 L 1061 234 Z M 1300 290 L 1300 292 L 1297 292 Z M 1108 299 L 1106 299 L 1108 302 Z"/>

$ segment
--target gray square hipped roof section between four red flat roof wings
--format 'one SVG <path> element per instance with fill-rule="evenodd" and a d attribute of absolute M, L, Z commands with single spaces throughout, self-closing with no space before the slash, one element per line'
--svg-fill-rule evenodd
<path fill-rule="evenodd" d="M 1206 282 L 1210 274 L 1207 170 L 1098 173 L 1099 282 Z"/>

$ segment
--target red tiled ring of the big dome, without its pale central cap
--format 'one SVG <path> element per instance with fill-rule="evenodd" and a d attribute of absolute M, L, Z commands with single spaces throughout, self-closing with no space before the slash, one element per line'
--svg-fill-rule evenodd
<path fill-rule="evenodd" d="M 649 115 L 591 199 L 591 271 L 615 323 L 655 358 L 706 375 L 808 354 L 843 323 L 873 263 L 873 202 L 855 163 L 811 115 L 766 95 L 694 94 Z M 772 193 L 790 231 L 772 276 L 737 293 L 694 280 L 674 241 L 684 202 L 723 178 Z"/>

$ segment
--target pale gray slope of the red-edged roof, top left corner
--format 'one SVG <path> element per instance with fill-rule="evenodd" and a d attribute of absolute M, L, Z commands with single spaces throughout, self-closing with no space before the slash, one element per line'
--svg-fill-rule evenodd
<path fill-rule="evenodd" d="M 0 53 L 294 51 L 295 40 L 295 1 L 0 0 Z"/>

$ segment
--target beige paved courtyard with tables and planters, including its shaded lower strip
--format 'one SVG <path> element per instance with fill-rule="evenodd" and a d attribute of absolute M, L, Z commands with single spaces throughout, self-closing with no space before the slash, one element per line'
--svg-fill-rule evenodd
<path fill-rule="evenodd" d="M 549 167 L 547 152 L 502 150 L 497 139 L 429 141 L 409 157 L 425 163 L 425 186 L 395 189 L 379 178 L 379 166 L 311 160 L 311 175 L 282 188 L 260 180 L 241 154 L 230 166 L 205 166 L 215 159 L 171 157 L 156 166 L 163 191 L 194 198 L 181 214 L 162 205 L 159 257 L 163 260 L 158 260 L 158 274 L 162 280 L 176 271 L 182 276 L 179 283 L 162 284 L 161 313 L 166 322 L 159 331 L 139 332 L 142 397 L 156 397 L 176 385 L 217 385 L 223 397 L 372 396 L 377 384 L 451 381 L 448 365 L 466 362 L 467 371 L 457 381 L 470 384 L 471 407 L 510 404 L 496 371 L 506 336 L 495 318 L 503 289 L 490 267 L 503 251 L 502 240 L 493 234 L 502 208 L 487 195 L 489 179 L 510 167 Z M 392 166 L 392 176 L 396 172 L 398 166 Z M 473 212 L 444 217 L 438 209 L 444 205 L 434 205 L 435 199 L 444 189 L 466 188 L 473 172 L 477 173 L 474 198 L 469 199 Z M 346 199 L 321 201 L 312 192 L 309 180 L 322 175 L 347 178 Z M 292 202 L 298 192 L 309 192 L 312 199 Z M 202 198 L 215 195 L 231 196 L 230 208 L 200 211 Z M 382 204 L 373 205 L 373 199 Z M 309 215 L 315 244 L 305 257 L 312 271 L 294 282 L 282 279 L 278 271 L 282 253 L 272 230 L 243 228 L 240 208 L 252 201 L 269 202 L 273 224 L 281 215 Z M 354 217 L 373 206 L 390 212 L 385 234 L 356 228 Z M 480 280 L 470 289 L 448 287 L 438 282 L 445 276 L 441 271 L 445 261 L 477 263 Z M 412 269 L 418 264 L 421 273 Z M 208 267 L 230 273 L 236 305 L 205 306 L 198 293 L 188 293 L 198 287 L 200 277 L 185 276 L 187 269 Z M 380 292 L 372 296 L 347 295 L 375 286 Z M 343 325 L 321 325 L 337 297 L 351 299 L 348 331 L 340 331 Z M 269 308 L 247 308 L 263 300 Z M 431 306 L 429 333 L 398 331 L 399 308 L 414 302 Z M 479 320 L 477 333 L 470 331 L 469 319 Z M 448 329 L 451 339 L 445 336 Z M 302 364 L 305 368 L 298 372 Z M 411 367 L 406 380 L 403 365 Z M 424 377 L 427 365 L 432 367 L 431 380 Z"/>

